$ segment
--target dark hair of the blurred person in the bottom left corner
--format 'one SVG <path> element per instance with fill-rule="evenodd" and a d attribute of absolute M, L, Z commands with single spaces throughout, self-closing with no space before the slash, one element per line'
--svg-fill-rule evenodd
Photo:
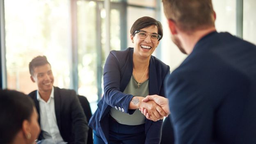
<path fill-rule="evenodd" d="M 9 144 L 22 128 L 24 120 L 30 121 L 33 100 L 15 90 L 0 89 L 0 144 Z"/>

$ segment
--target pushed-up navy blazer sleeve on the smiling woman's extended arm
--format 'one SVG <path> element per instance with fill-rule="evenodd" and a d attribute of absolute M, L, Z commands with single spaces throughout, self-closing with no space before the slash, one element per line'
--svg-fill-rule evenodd
<path fill-rule="evenodd" d="M 121 68 L 123 67 L 120 64 L 119 59 L 110 52 L 106 59 L 103 73 L 104 81 L 104 95 L 107 105 L 111 107 L 120 107 L 123 108 L 124 112 L 132 114 L 134 110 L 128 110 L 129 104 L 133 95 L 124 94 L 120 91 L 120 81 L 121 81 Z"/>

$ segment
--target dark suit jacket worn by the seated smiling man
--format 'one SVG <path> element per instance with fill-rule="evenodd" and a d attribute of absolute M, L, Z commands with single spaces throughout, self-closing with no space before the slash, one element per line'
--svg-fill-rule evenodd
<path fill-rule="evenodd" d="M 35 102 L 40 124 L 37 90 L 32 91 L 28 95 Z M 89 127 L 87 126 L 87 119 L 75 91 L 54 87 L 54 104 L 57 125 L 63 140 L 69 144 L 86 144 Z M 39 135 L 40 139 L 43 139 L 41 134 Z"/>

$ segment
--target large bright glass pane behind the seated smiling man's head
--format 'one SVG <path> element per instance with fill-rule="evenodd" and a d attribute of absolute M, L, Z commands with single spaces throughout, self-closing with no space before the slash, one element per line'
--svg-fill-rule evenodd
<path fill-rule="evenodd" d="M 5 0 L 7 88 L 29 93 L 36 89 L 28 64 L 46 55 L 55 83 L 70 86 L 69 0 Z"/>

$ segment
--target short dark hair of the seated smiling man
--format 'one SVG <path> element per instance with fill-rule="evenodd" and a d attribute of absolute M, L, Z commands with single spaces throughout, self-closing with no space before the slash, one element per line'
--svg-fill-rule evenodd
<path fill-rule="evenodd" d="M 30 70 L 30 75 L 34 74 L 34 68 L 37 66 L 43 66 L 45 64 L 50 64 L 46 58 L 46 56 L 37 56 L 32 59 L 32 61 L 29 64 L 29 70 Z"/>

